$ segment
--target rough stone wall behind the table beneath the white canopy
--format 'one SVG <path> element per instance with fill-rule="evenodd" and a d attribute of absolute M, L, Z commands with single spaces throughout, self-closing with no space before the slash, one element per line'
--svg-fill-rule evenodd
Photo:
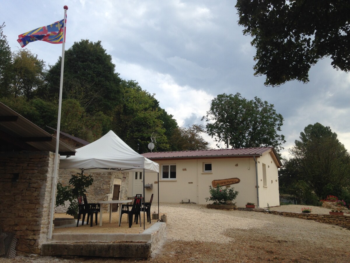
<path fill-rule="evenodd" d="M 75 174 L 72 171 L 59 170 L 58 182 L 61 182 L 63 186 L 69 185 L 69 180 Z M 89 173 L 84 173 L 89 174 Z M 93 183 L 86 189 L 86 197 L 89 203 L 96 203 L 97 201 L 106 201 L 112 199 L 113 194 L 113 179 L 120 178 L 123 180 L 123 176 L 126 177 L 124 182 L 121 182 L 120 186 L 120 199 L 127 199 L 128 181 L 125 172 L 117 171 L 113 173 L 90 173 L 93 178 Z M 109 211 L 109 205 L 103 206 L 103 211 Z"/>

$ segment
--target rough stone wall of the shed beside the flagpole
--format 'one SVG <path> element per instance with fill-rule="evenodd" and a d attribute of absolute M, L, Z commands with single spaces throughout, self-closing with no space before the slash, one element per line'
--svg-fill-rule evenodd
<path fill-rule="evenodd" d="M 40 254 L 50 223 L 54 153 L 0 153 L 0 228 L 18 239 L 18 254 Z"/>

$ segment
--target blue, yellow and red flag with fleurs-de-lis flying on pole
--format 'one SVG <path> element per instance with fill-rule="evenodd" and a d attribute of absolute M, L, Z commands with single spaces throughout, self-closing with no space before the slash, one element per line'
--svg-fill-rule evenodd
<path fill-rule="evenodd" d="M 67 19 L 67 16 L 66 18 Z M 64 30 L 65 32 L 65 30 Z M 51 25 L 39 27 L 27 33 L 18 36 L 18 43 L 21 47 L 25 47 L 30 42 L 41 40 L 52 44 L 62 44 L 65 41 L 65 33 L 63 37 L 63 19 Z"/>

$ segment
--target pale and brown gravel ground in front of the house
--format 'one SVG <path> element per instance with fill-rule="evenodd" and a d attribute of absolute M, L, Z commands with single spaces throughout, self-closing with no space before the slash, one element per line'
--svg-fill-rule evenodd
<path fill-rule="evenodd" d="M 271 210 L 300 212 L 302 205 Z M 311 207 L 312 213 L 328 214 Z M 155 208 L 154 208 L 155 209 Z M 147 262 L 350 262 L 350 231 L 311 220 L 268 213 L 160 204 L 166 238 Z M 2 262 L 133 262 L 131 259 L 16 257 Z"/>

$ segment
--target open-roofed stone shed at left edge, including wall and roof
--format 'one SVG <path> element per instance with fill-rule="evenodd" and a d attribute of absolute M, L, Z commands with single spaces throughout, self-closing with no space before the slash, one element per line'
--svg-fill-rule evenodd
<path fill-rule="evenodd" d="M 0 256 L 40 254 L 48 240 L 56 139 L 0 103 Z M 59 154 L 74 155 L 59 143 Z M 2 234 L 1 234 L 2 233 Z M 13 236 L 7 244 L 5 236 Z"/>

